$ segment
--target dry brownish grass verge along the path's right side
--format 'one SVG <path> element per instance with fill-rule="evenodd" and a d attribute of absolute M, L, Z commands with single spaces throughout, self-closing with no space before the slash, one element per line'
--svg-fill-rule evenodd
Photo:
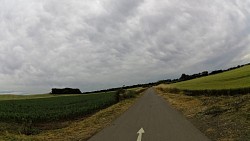
<path fill-rule="evenodd" d="M 250 138 L 250 95 L 188 96 L 157 92 L 180 110 L 198 129 L 214 141 L 246 141 Z"/>

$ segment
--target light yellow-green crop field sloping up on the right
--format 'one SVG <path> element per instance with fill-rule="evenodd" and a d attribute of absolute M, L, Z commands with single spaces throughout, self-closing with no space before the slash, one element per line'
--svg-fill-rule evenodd
<path fill-rule="evenodd" d="M 171 84 L 171 87 L 187 90 L 222 90 L 250 87 L 250 65 L 193 80 Z"/>

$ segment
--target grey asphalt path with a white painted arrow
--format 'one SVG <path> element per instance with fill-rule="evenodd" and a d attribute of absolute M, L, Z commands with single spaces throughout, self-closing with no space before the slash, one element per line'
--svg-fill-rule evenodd
<path fill-rule="evenodd" d="M 150 88 L 122 116 L 89 141 L 209 141 Z"/>

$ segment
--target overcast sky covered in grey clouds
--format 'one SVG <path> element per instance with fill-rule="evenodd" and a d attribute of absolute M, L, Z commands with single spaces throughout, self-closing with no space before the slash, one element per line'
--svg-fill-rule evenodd
<path fill-rule="evenodd" d="M 250 0 L 0 0 L 0 91 L 90 91 L 249 62 Z"/>

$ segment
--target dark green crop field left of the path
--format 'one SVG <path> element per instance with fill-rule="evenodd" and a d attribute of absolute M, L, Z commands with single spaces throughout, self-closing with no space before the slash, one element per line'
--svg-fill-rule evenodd
<path fill-rule="evenodd" d="M 32 96 L 31 96 L 32 97 Z M 10 97 L 9 97 L 10 98 Z M 34 97 L 32 97 L 34 98 Z M 0 121 L 47 122 L 84 116 L 116 103 L 115 93 L 52 96 L 0 101 Z"/>

